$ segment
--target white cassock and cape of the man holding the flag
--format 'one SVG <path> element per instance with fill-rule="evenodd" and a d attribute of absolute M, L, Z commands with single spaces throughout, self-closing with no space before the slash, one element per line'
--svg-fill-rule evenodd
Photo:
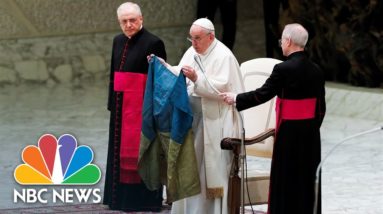
<path fill-rule="evenodd" d="M 201 59 L 205 74 L 194 59 L 196 55 Z M 240 121 L 235 108 L 225 104 L 215 89 L 243 92 L 242 75 L 233 53 L 217 39 L 204 54 L 198 54 L 190 47 L 177 68 L 183 65 L 192 66 L 198 75 L 195 83 L 188 80 L 188 92 L 193 110 L 201 193 L 174 202 L 171 213 L 226 214 L 232 154 L 221 150 L 220 142 L 225 137 L 240 137 Z"/>

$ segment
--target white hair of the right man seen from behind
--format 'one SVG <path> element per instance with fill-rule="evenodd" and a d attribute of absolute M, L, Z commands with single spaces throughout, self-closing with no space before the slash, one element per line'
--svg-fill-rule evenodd
<path fill-rule="evenodd" d="M 293 23 L 285 26 L 282 38 L 289 38 L 295 45 L 304 48 L 309 38 L 309 33 L 302 25 Z"/>

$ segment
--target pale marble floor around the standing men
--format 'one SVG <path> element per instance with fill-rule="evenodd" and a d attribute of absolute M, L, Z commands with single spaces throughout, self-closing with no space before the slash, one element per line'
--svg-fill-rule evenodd
<path fill-rule="evenodd" d="M 336 86 L 328 86 L 328 98 L 342 92 L 343 89 Z M 358 91 L 357 88 L 353 90 Z M 381 96 L 381 92 L 371 93 Z M 370 92 L 365 93 L 370 96 Z M 81 88 L 23 85 L 0 89 L 0 213 L 1 209 L 11 207 L 42 206 L 41 203 L 13 202 L 14 189 L 20 191 L 25 188 L 15 182 L 13 173 L 22 163 L 22 150 L 27 145 L 37 145 L 43 134 L 59 137 L 68 133 L 76 137 L 78 144 L 89 145 L 95 155 L 93 163 L 104 174 L 109 120 L 106 95 L 106 85 L 100 83 L 85 84 Z M 346 137 L 383 125 L 381 118 L 373 120 L 331 114 L 334 112 L 331 108 L 336 105 L 331 100 L 328 103 L 330 113 L 321 129 L 323 158 Z M 379 108 L 383 114 L 382 106 Z M 383 132 L 376 131 L 345 141 L 332 151 L 323 164 L 323 213 L 383 212 L 382 143 Z M 254 159 L 249 162 L 257 164 Z M 268 164 L 261 160 L 259 165 L 267 167 Z M 102 191 L 103 182 L 102 177 L 92 188 Z M 265 206 L 256 206 L 255 209 L 264 211 Z"/>

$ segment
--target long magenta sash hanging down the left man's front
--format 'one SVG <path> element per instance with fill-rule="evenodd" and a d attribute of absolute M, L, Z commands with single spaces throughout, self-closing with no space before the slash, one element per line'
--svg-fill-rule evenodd
<path fill-rule="evenodd" d="M 137 172 L 146 74 L 114 72 L 114 91 L 123 92 L 120 182 L 140 183 Z"/>

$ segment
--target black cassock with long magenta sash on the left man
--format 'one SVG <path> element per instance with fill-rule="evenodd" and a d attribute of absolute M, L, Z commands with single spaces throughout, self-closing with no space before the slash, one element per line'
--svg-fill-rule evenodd
<path fill-rule="evenodd" d="M 113 40 L 104 204 L 114 210 L 159 211 L 162 206 L 162 190 L 148 190 L 136 168 L 150 54 L 166 60 L 164 43 L 145 28 L 130 39 L 120 34 Z"/>

